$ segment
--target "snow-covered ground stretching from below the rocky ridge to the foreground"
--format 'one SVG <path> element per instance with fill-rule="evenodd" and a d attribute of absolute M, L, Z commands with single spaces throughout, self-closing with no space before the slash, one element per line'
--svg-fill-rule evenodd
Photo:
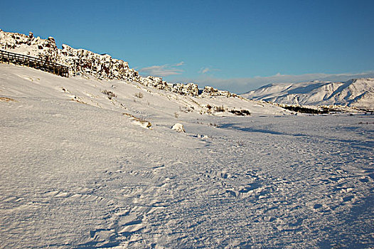
<path fill-rule="evenodd" d="M 0 248 L 374 247 L 373 115 L 6 64 L 0 110 Z"/>

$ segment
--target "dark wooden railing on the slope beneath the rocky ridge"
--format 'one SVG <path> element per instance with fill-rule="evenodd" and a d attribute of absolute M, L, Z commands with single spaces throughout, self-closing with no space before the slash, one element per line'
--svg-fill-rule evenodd
<path fill-rule="evenodd" d="M 0 61 L 4 63 L 14 63 L 16 65 L 26 65 L 55 75 L 69 77 L 69 68 L 67 66 L 28 55 L 0 50 Z"/>

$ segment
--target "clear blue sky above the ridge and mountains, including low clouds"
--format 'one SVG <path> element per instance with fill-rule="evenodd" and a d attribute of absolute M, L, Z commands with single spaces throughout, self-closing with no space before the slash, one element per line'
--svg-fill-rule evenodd
<path fill-rule="evenodd" d="M 0 28 L 234 92 L 374 75 L 374 1 L 3 1 Z"/>

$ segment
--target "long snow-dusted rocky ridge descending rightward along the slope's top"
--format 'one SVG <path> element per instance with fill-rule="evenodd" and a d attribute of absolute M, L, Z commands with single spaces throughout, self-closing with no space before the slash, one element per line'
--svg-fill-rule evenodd
<path fill-rule="evenodd" d="M 238 97 L 228 92 L 217 90 L 212 87 L 198 89 L 194 83 L 167 83 L 160 77 L 141 77 L 129 63 L 117 60 L 107 54 L 97 54 L 85 49 L 72 48 L 63 44 L 62 49 L 55 44 L 53 37 L 42 39 L 29 33 L 28 36 L 21 33 L 4 32 L 0 29 L 0 48 L 5 51 L 31 55 L 53 63 L 59 63 L 69 67 L 69 75 L 92 75 L 100 80 L 127 80 L 137 82 L 146 87 L 176 92 L 181 95 L 193 97 L 225 96 Z"/>

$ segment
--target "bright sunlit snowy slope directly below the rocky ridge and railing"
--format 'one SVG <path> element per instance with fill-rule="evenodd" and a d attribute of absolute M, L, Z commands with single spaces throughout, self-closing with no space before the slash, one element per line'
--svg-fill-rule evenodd
<path fill-rule="evenodd" d="M 280 107 L 241 97 L 210 95 L 193 97 L 124 80 L 97 80 L 87 76 L 62 78 L 33 68 L 7 64 L 0 64 L 0 68 L 3 73 L 2 82 L 9 83 L 1 94 L 15 98 L 25 94 L 54 97 L 142 117 L 161 114 L 164 117 L 233 116 L 237 112 L 241 114 L 241 110 L 248 111 L 250 112 L 248 114 L 252 113 L 252 115 L 288 113 Z"/>

